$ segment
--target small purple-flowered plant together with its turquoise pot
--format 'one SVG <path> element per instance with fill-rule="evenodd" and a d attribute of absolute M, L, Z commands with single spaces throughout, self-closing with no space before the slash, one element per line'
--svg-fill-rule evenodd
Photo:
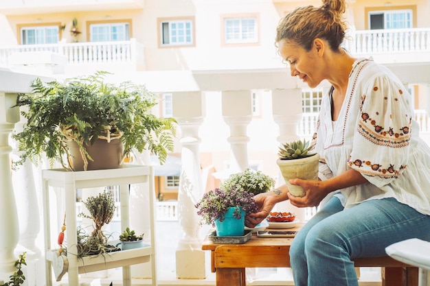
<path fill-rule="evenodd" d="M 245 216 L 257 211 L 253 193 L 240 188 L 208 191 L 195 206 L 200 223 L 215 226 L 218 236 L 243 235 Z"/>

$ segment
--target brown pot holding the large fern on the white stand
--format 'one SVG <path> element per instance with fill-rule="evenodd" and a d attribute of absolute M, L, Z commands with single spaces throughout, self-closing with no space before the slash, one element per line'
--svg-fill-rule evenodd
<path fill-rule="evenodd" d="M 89 156 L 93 158 L 92 161 L 87 159 L 87 169 L 84 169 L 84 160 L 82 160 L 78 144 L 75 141 L 69 141 L 68 145 L 74 171 L 115 169 L 122 164 L 124 146 L 120 139 L 112 140 L 109 143 L 104 139 L 97 139 L 93 145 L 84 144 Z"/>

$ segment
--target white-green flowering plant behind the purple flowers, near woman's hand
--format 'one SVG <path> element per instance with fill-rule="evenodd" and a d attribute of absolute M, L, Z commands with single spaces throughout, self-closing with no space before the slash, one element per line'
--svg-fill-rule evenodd
<path fill-rule="evenodd" d="M 240 173 L 231 174 L 227 180 L 220 184 L 220 189 L 240 189 L 258 195 L 275 187 L 275 180 L 262 171 L 254 171 L 251 168 Z"/>

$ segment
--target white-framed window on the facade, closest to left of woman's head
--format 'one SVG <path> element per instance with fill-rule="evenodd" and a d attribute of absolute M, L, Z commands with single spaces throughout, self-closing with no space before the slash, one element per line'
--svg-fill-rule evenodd
<path fill-rule="evenodd" d="M 257 18 L 225 18 L 224 43 L 258 43 Z"/>

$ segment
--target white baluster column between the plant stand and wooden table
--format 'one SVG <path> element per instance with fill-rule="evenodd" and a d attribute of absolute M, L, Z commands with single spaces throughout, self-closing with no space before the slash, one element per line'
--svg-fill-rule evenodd
<path fill-rule="evenodd" d="M 194 204 L 203 195 L 199 145 L 199 127 L 204 118 L 204 98 L 200 92 L 174 93 L 173 116 L 181 132 L 181 179 L 178 193 L 179 224 L 183 237 L 176 251 L 177 278 L 203 279 L 205 252 L 201 250 L 199 216 Z"/>

